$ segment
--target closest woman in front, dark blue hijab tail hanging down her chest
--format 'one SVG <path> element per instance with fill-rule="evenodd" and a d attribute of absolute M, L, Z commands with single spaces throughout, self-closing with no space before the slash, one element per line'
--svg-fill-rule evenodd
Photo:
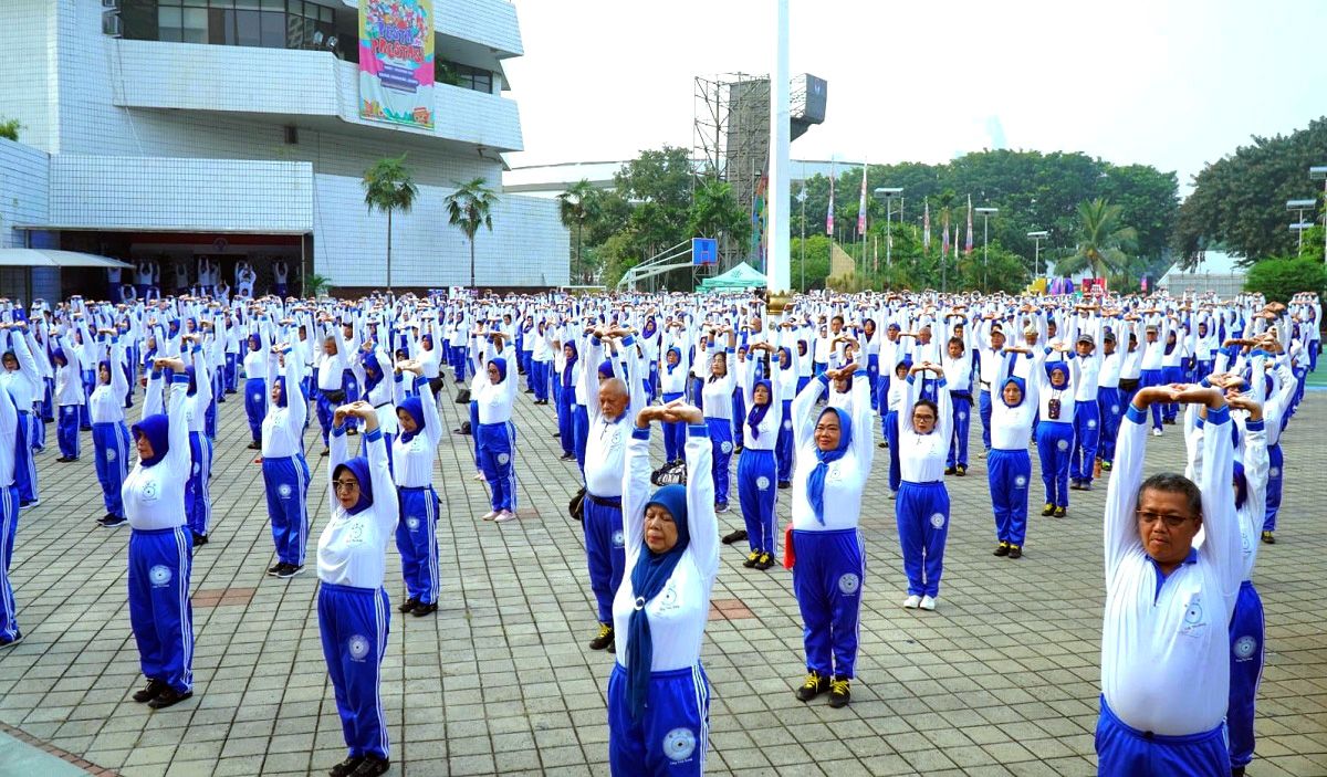
<path fill-rule="evenodd" d="M 650 493 L 650 422 L 687 424 L 686 485 Z M 699 408 L 645 407 L 626 446 L 622 532 L 626 571 L 613 599 L 617 662 L 608 680 L 608 756 L 614 776 L 701 774 L 710 683 L 701 642 L 719 570 L 709 428 Z"/>

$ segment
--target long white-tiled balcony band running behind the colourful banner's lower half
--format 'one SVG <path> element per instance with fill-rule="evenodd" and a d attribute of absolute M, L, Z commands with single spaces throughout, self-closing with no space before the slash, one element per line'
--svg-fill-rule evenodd
<path fill-rule="evenodd" d="M 265 114 L 328 131 L 341 122 L 342 130 L 433 135 L 494 151 L 523 147 L 515 101 L 445 84 L 434 86 L 431 133 L 365 121 L 358 65 L 329 52 L 141 40 L 113 45 L 113 102 L 122 107 Z"/>

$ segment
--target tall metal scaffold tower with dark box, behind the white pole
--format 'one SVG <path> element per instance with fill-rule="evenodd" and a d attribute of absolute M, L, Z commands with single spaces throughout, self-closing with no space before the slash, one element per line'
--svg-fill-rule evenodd
<path fill-rule="evenodd" d="M 791 80 L 790 141 L 824 122 L 827 84 L 803 73 Z M 751 216 L 752 236 L 738 245 L 719 241 L 719 261 L 698 268 L 698 277 L 718 274 L 746 261 L 760 272 L 770 174 L 770 78 L 747 73 L 695 78 L 691 159 L 697 179 L 717 176 L 733 186 L 738 206 Z"/>

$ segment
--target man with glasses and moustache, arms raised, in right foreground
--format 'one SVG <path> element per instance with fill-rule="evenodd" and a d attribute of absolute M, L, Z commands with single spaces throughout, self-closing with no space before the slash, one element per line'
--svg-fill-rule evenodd
<path fill-rule="evenodd" d="M 1148 407 L 1168 402 L 1204 406 L 1198 484 L 1176 473 L 1143 480 Z M 1143 388 L 1121 420 L 1105 505 L 1103 776 L 1230 773 L 1226 623 L 1242 574 L 1230 423 L 1221 390 L 1198 386 Z M 1206 541 L 1194 550 L 1200 528 Z"/>

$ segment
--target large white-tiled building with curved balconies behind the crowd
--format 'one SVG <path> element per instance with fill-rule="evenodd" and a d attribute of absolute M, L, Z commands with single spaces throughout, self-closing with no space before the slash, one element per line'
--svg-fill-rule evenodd
<path fill-rule="evenodd" d="M 523 149 L 503 60 L 522 54 L 507 0 L 434 0 L 433 131 L 360 118 L 357 0 L 3 0 L 11 41 L 0 119 L 0 247 L 65 248 L 129 261 L 284 257 L 342 290 L 386 285 L 386 216 L 361 176 L 406 154 L 419 186 L 393 217 L 397 288 L 470 282 L 470 249 L 443 198 L 483 178 L 499 190 L 476 239 L 479 286 L 567 282 L 556 203 L 502 192 L 502 154 Z M 0 293 L 96 288 L 92 270 L 0 272 Z"/>

